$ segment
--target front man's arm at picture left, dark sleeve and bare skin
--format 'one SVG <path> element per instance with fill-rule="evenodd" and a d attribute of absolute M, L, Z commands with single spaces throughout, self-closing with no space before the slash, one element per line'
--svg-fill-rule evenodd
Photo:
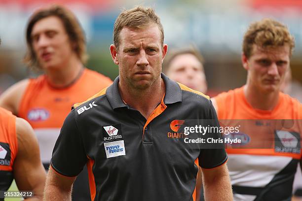
<path fill-rule="evenodd" d="M 86 163 L 87 155 L 78 131 L 75 110 L 72 110 L 53 148 L 44 201 L 70 201 L 72 184 Z"/>

